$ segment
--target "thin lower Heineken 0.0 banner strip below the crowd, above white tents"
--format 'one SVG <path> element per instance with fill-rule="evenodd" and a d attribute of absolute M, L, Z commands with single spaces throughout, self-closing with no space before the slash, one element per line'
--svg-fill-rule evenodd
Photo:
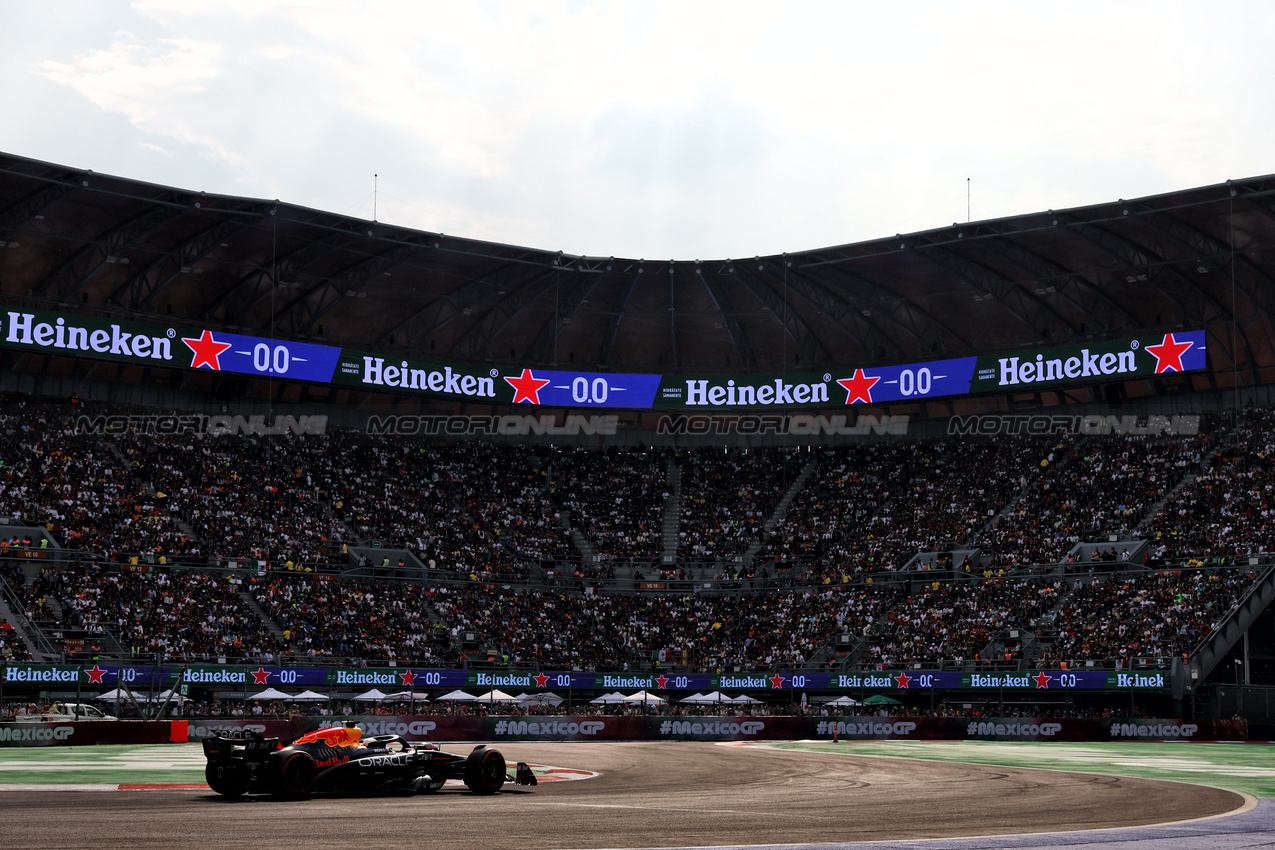
<path fill-rule="evenodd" d="M 1037 670 L 966 673 L 959 670 L 880 670 L 872 673 L 581 673 L 566 670 L 479 672 L 428 668 L 323 668 L 194 664 L 6 664 L 4 682 L 46 689 L 75 684 L 193 684 L 240 691 L 254 687 L 307 688 L 482 688 L 484 691 L 1160 691 L 1164 670 Z"/>

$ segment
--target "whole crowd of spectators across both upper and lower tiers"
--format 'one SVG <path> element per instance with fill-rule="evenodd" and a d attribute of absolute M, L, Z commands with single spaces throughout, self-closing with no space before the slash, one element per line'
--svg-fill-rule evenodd
<path fill-rule="evenodd" d="M 989 646 L 997 658 L 979 660 L 1012 661 L 1023 647 L 1000 646 L 998 636 L 1031 626 L 1051 607 L 1058 626 L 1047 663 L 1164 656 L 1193 647 L 1252 577 L 1122 575 L 1071 591 L 1040 580 L 943 579 L 908 593 L 882 573 L 901 571 L 918 552 L 966 545 L 983 553 L 968 573 L 994 579 L 1140 526 L 1159 557 L 1178 562 L 1242 562 L 1275 545 L 1270 409 L 1244 412 L 1229 432 L 1206 417 L 1195 437 L 1002 436 L 676 454 L 423 446 L 339 431 L 89 435 L 75 428 L 82 413 L 5 404 L 0 512 L 45 526 L 98 563 L 46 570 L 29 584 L 0 558 L 0 576 L 26 608 L 18 613 L 34 619 L 57 609 L 69 626 L 110 632 L 125 651 L 148 656 L 293 652 L 449 665 L 468 651 L 458 636 L 472 631 L 483 645 L 472 661 L 771 669 L 833 663 L 834 638 L 849 632 L 866 641 L 870 664 L 960 663 Z M 724 586 L 737 593 L 691 593 L 694 582 L 667 595 L 611 593 L 616 585 L 578 593 L 584 580 L 613 575 L 608 563 L 659 553 L 672 507 L 669 463 L 681 466 L 680 558 L 732 565 Z M 807 464 L 810 480 L 764 533 Z M 586 545 L 578 549 L 572 531 Z M 346 544 L 363 542 L 413 551 L 468 584 L 296 575 L 343 566 Z M 734 566 L 754 545 L 757 561 Z M 601 565 L 580 559 L 590 547 Z M 260 579 L 170 568 L 261 562 L 272 570 Z M 581 581 L 537 590 L 532 580 L 561 563 Z M 802 581 L 780 589 L 770 581 L 780 572 L 803 572 Z M 741 579 L 759 573 L 759 582 Z M 273 623 L 251 610 L 245 590 Z M 11 630 L 0 631 L 0 655 L 26 652 Z"/>

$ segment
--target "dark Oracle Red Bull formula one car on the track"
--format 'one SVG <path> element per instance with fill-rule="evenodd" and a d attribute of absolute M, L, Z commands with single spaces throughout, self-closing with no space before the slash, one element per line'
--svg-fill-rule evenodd
<path fill-rule="evenodd" d="M 525 762 L 509 775 L 505 757 L 484 744 L 453 756 L 402 735 L 363 738 L 357 728 L 320 729 L 291 743 L 251 730 L 218 731 L 204 739 L 204 754 L 208 786 L 226 796 L 433 793 L 449 779 L 464 780 L 474 794 L 495 794 L 505 782 L 536 785 Z"/>

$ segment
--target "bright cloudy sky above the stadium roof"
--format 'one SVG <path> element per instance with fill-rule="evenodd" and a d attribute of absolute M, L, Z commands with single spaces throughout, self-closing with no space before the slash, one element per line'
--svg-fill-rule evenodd
<path fill-rule="evenodd" d="M 1266 1 L 0 0 L 0 150 L 768 255 L 1272 173 L 1272 32 Z"/>

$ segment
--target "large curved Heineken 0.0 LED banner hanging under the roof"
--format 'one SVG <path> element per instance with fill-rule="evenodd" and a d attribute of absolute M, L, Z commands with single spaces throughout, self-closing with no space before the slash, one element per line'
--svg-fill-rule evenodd
<path fill-rule="evenodd" d="M 488 367 L 116 321 L 47 310 L 0 311 L 0 347 L 143 366 L 274 376 L 451 400 L 566 408 L 787 410 L 1017 393 L 1207 367 L 1205 331 L 1187 330 L 895 366 L 780 375 L 638 375 Z"/>

